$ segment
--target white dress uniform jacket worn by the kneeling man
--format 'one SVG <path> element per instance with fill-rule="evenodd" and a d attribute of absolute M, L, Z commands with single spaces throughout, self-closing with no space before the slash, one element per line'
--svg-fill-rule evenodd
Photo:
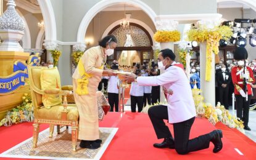
<path fill-rule="evenodd" d="M 172 95 L 167 94 L 169 123 L 183 122 L 196 116 L 191 87 L 186 73 L 180 67 L 170 66 L 165 73 L 159 76 L 138 77 L 137 82 L 140 86 L 162 85 L 167 90 L 173 90 Z"/>

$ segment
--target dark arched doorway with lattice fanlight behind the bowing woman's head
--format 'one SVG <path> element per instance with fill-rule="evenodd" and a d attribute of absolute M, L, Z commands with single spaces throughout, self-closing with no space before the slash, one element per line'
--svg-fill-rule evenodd
<path fill-rule="evenodd" d="M 141 25 L 130 23 L 129 28 L 120 25 L 109 31 L 117 38 L 114 55 L 108 57 L 111 65 L 118 60 L 120 65 L 131 66 L 133 63 L 149 63 L 153 58 L 153 41 L 149 32 Z"/>

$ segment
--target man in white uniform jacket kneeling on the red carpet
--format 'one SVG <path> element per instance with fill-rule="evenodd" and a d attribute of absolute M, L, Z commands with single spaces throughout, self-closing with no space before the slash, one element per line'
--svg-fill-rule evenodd
<path fill-rule="evenodd" d="M 189 80 L 183 68 L 175 62 L 175 54 L 170 49 L 164 49 L 159 54 L 159 69 L 165 73 L 154 77 L 138 77 L 134 74 L 127 75 L 128 82 L 138 82 L 140 86 L 162 85 L 167 90 L 168 105 L 158 105 L 149 108 L 148 114 L 153 124 L 157 138 L 164 138 L 162 143 L 155 143 L 156 148 L 171 148 L 178 154 L 187 154 L 191 151 L 209 148 L 213 143 L 213 153 L 222 149 L 221 130 L 213 130 L 209 134 L 200 135 L 189 140 L 189 133 L 196 116 L 196 108 L 192 98 L 192 91 Z M 173 124 L 173 139 L 170 130 L 165 125 L 163 119 Z"/>

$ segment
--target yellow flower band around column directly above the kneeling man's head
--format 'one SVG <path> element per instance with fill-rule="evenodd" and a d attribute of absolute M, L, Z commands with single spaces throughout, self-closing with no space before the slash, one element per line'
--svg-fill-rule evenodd
<path fill-rule="evenodd" d="M 180 41 L 181 34 L 180 31 L 157 31 L 154 34 L 154 39 L 157 42 L 176 42 Z"/>

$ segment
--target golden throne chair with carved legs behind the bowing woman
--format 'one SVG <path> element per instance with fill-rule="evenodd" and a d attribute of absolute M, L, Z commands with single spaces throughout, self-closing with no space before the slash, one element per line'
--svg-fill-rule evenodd
<path fill-rule="evenodd" d="M 43 70 L 43 68 L 46 67 L 28 66 L 28 79 L 30 81 L 30 91 L 35 116 L 33 124 L 33 148 L 37 147 L 36 143 L 38 142 L 39 125 L 49 124 L 49 137 L 52 137 L 55 125 L 71 126 L 72 149 L 73 151 L 76 151 L 79 118 L 77 107 L 74 104 L 67 104 L 68 90 L 57 88 L 41 89 L 41 70 Z M 56 97 L 63 95 L 64 100 L 62 104 L 60 103 L 59 105 L 51 106 L 51 108 L 46 108 L 42 101 L 43 95 L 56 95 Z"/>

